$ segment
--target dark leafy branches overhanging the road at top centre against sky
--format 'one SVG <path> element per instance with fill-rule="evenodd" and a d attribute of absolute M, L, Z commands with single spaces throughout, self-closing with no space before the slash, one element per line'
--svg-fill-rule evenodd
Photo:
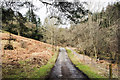
<path fill-rule="evenodd" d="M 84 7 L 84 5 L 87 5 L 86 2 L 62 2 L 55 0 L 52 3 L 48 3 L 47 1 L 40 1 L 47 6 L 47 9 L 51 13 L 51 18 L 57 17 L 61 23 L 63 20 L 61 18 L 65 18 L 74 23 L 80 23 L 87 19 L 85 16 L 87 16 L 89 11 Z"/>

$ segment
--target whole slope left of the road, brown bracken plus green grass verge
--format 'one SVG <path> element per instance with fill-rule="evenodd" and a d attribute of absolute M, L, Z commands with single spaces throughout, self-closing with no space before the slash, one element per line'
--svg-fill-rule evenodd
<path fill-rule="evenodd" d="M 9 38 L 9 33 L 4 31 L 2 34 L 2 41 L 7 41 Z M 50 44 L 46 44 L 40 41 L 36 41 L 33 39 L 17 36 L 11 34 L 12 37 L 16 39 L 16 41 L 11 41 L 11 42 L 16 42 L 19 45 L 17 45 L 17 49 L 15 50 L 20 50 L 24 51 L 25 53 L 19 51 L 18 53 L 15 52 L 15 50 L 4 50 L 4 55 L 2 55 L 3 58 L 3 64 L 2 64 L 2 77 L 3 78 L 44 78 L 46 75 L 48 75 L 49 71 L 55 64 L 56 58 L 58 51 L 53 52 L 52 47 Z M 5 40 L 4 40 L 5 39 Z M 27 48 L 21 48 L 21 43 L 20 40 L 27 41 L 26 46 Z M 28 43 L 31 43 L 30 45 L 27 45 Z M 3 43 L 5 44 L 5 43 Z M 13 47 L 15 46 L 12 44 Z M 29 50 L 30 49 L 30 50 Z M 27 51 L 29 50 L 29 53 Z M 32 50 L 32 51 L 31 51 Z M 43 54 L 41 55 L 42 57 L 38 56 L 32 56 L 32 53 L 40 53 Z M 46 54 L 44 54 L 46 53 Z M 48 54 L 49 53 L 49 54 Z M 55 53 L 53 56 L 52 54 Z M 11 55 L 9 55 L 11 54 Z M 28 58 L 22 58 L 24 55 L 30 55 L 27 56 Z M 52 56 L 52 57 L 50 57 Z M 16 58 L 20 58 L 19 60 L 16 60 Z M 42 58 L 38 62 L 33 62 L 33 58 Z M 45 59 L 43 59 L 45 58 Z M 45 65 L 39 64 L 39 62 L 44 62 L 45 60 L 47 63 L 44 63 Z M 50 58 L 50 59 L 49 59 Z M 45 61 L 46 62 L 46 61 Z M 35 64 L 33 64 L 35 63 Z M 37 64 L 37 65 L 36 65 Z M 42 65 L 42 66 L 41 66 Z"/>

